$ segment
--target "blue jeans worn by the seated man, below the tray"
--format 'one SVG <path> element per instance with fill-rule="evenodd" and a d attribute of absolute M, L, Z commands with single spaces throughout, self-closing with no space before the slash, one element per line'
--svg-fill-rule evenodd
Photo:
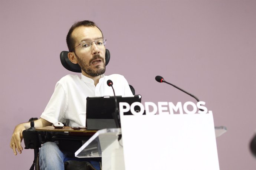
<path fill-rule="evenodd" d="M 69 158 L 60 151 L 56 142 L 46 142 L 39 150 L 39 166 L 40 170 L 64 170 L 64 161 L 66 160 L 85 160 L 78 158 Z M 87 160 L 88 161 L 88 160 Z M 90 162 L 94 168 L 99 169 L 99 163 L 95 161 Z"/>

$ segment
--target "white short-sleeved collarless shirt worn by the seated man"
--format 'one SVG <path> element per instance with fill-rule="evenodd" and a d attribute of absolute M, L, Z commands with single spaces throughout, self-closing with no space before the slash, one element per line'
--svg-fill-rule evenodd
<path fill-rule="evenodd" d="M 133 96 L 129 84 L 124 76 L 112 74 L 99 79 L 95 86 L 94 81 L 81 74 L 66 75 L 61 78 L 47 104 L 41 118 L 51 122 L 64 122 L 68 126 L 86 126 L 86 98 L 93 96 L 114 96 L 113 90 L 107 85 L 111 79 L 115 95 Z"/>

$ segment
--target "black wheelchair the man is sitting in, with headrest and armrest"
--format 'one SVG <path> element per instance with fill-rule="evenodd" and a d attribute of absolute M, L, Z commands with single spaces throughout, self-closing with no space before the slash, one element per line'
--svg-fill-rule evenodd
<path fill-rule="evenodd" d="M 69 58 L 68 58 L 68 51 L 62 51 L 60 53 L 60 61 L 61 64 L 63 65 L 64 68 L 68 69 L 69 71 L 72 72 L 81 72 L 81 68 L 78 64 L 73 64 Z M 110 60 L 110 52 L 108 49 L 106 49 L 105 53 L 105 61 L 106 65 L 109 63 Z M 135 95 L 135 89 L 132 87 L 132 85 L 129 85 L 133 95 Z M 71 148 L 68 148 L 68 151 L 70 153 L 74 153 L 76 150 L 78 150 L 82 146 L 82 140 L 88 140 L 89 138 L 85 137 L 73 137 L 72 139 L 67 139 L 66 137 L 63 136 L 58 136 L 56 132 L 40 132 L 36 131 L 34 127 L 34 120 L 37 120 L 37 118 L 31 118 L 29 119 L 30 122 L 30 128 L 27 130 L 23 131 L 23 139 L 24 139 L 24 144 L 25 148 L 24 149 L 34 149 L 34 160 L 33 164 L 30 167 L 30 170 L 40 170 L 39 167 L 39 149 L 42 146 L 43 143 L 48 142 L 48 141 L 61 141 L 61 144 L 59 143 L 60 150 L 67 149 L 64 146 L 72 146 Z M 61 146 L 60 146 L 61 145 Z M 72 164 L 76 164 L 77 162 L 72 162 L 72 161 L 66 161 L 64 162 L 65 165 L 65 170 L 69 170 L 72 166 Z M 93 167 L 90 165 L 82 165 L 86 166 L 88 170 L 94 170 Z M 72 168 L 73 169 L 73 168 Z M 77 170 L 80 170 L 79 168 Z"/>

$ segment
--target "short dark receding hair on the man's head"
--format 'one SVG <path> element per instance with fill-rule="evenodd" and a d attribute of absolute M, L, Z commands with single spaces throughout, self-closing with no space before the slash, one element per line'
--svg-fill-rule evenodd
<path fill-rule="evenodd" d="M 98 26 L 96 26 L 96 24 L 93 21 L 89 21 L 89 20 L 84 20 L 84 21 L 78 21 L 76 23 L 73 24 L 73 26 L 69 29 L 68 31 L 68 35 L 66 38 L 66 42 L 68 45 L 68 50 L 69 52 L 72 52 L 73 49 L 75 48 L 75 40 L 74 38 L 71 36 L 71 34 L 73 33 L 73 31 L 75 30 L 75 28 L 77 27 L 81 27 L 81 26 L 85 26 L 85 27 L 97 27 L 99 29 Z M 101 29 L 99 29 L 101 31 Z M 101 31 L 102 34 L 102 31 Z M 102 34 L 103 37 L 103 34 Z"/>

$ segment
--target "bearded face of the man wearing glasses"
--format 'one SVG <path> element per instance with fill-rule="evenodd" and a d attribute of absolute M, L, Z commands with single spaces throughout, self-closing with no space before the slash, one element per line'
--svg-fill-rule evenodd
<path fill-rule="evenodd" d="M 97 27 L 78 27 L 72 37 L 75 40 L 75 47 L 83 41 L 92 42 L 103 39 L 101 31 Z M 88 77 L 95 77 L 105 72 L 105 52 L 104 45 L 92 43 L 89 48 L 82 48 L 81 45 L 74 49 L 76 61 L 82 69 L 82 74 Z"/>

